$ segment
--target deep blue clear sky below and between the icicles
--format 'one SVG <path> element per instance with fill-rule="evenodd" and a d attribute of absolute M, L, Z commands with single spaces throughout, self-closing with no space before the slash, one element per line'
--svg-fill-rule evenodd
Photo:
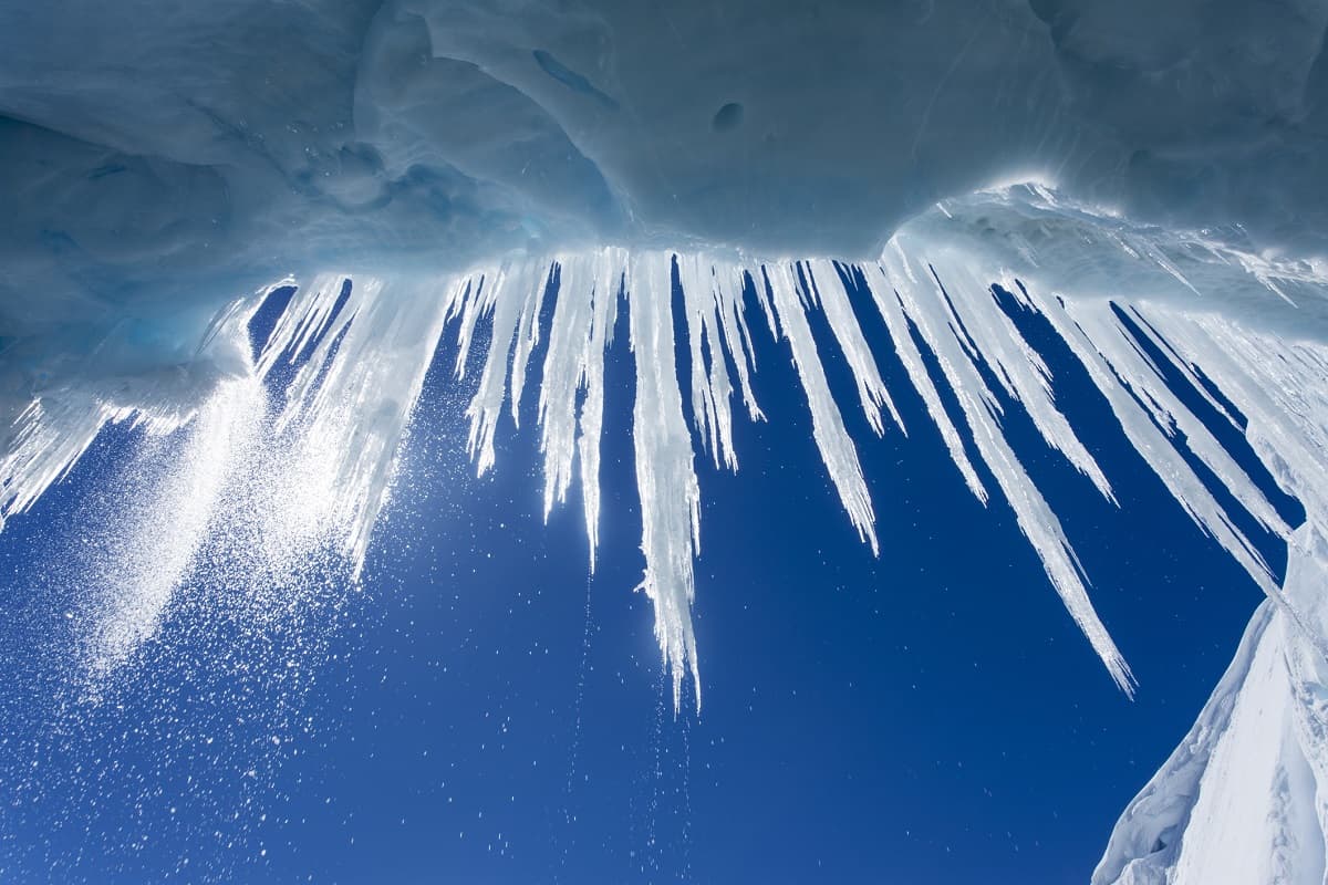
<path fill-rule="evenodd" d="M 474 479 L 461 413 L 478 373 L 452 379 L 449 333 L 364 590 L 333 581 L 260 636 L 201 614 L 224 606 L 185 605 L 88 703 L 72 698 L 62 617 L 80 588 L 60 564 L 90 543 L 89 500 L 141 442 L 106 433 L 0 535 L 0 882 L 1086 881 L 1260 596 L 1040 320 L 1008 308 L 1121 502 L 1007 411 L 1139 679 L 1126 699 L 1008 507 L 964 488 L 859 306 L 910 437 L 871 438 L 829 330 L 815 332 L 880 557 L 819 463 L 788 346 L 754 322 L 769 422 L 740 421 L 736 476 L 697 460 L 700 716 L 675 719 L 648 602 L 631 592 L 622 317 L 594 580 L 575 488 L 542 525 L 530 387 L 523 430 L 505 415 L 498 468 Z"/>

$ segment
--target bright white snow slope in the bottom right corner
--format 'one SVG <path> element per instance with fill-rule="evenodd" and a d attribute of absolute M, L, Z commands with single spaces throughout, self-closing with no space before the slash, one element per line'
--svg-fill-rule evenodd
<path fill-rule="evenodd" d="M 1287 593 L 1321 597 L 1323 536 L 1305 525 L 1291 549 Z M 1093 885 L 1324 881 L 1325 666 L 1299 629 L 1274 602 L 1259 608 L 1194 728 L 1122 815 Z"/>

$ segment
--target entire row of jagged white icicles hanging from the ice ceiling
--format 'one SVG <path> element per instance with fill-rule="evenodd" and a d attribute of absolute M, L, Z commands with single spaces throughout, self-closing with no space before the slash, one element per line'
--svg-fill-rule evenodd
<path fill-rule="evenodd" d="M 1153 261 L 1170 276 L 1182 273 L 1159 252 L 1154 256 L 1137 249 L 1131 255 Z M 555 306 L 538 403 L 544 512 L 547 517 L 552 506 L 564 500 L 579 458 L 594 568 L 604 358 L 625 300 L 636 365 L 632 435 L 645 557 L 639 589 L 655 610 L 655 634 L 672 677 L 675 709 L 681 702 L 685 674 L 692 677 L 700 705 L 691 618 L 693 561 L 700 551 L 700 490 L 697 448 L 676 381 L 675 268 L 692 354 L 692 423 L 700 451 L 709 452 L 717 466 L 737 468 L 732 437 L 736 389 L 728 361 L 738 375 L 737 390 L 748 415 L 764 418 L 750 385 L 756 353 L 748 310 L 754 300 L 770 332 L 788 342 L 830 480 L 850 523 L 874 553 L 879 552 L 879 541 L 871 498 L 809 324 L 813 312 L 825 314 L 853 372 L 859 406 L 872 430 L 886 433 L 888 415 L 903 431 L 849 299 L 863 284 L 967 487 L 977 500 L 988 502 L 989 492 L 975 464 L 980 462 L 1109 674 L 1122 690 L 1133 691 L 1129 667 L 1093 609 L 1082 568 L 1056 513 L 1005 439 L 1000 399 L 987 378 L 993 378 L 1005 397 L 1021 403 L 1046 443 L 1114 502 L 1112 488 L 1057 409 L 1046 365 L 996 301 L 991 281 L 997 281 L 1050 322 L 1106 398 L 1126 438 L 1190 517 L 1240 563 L 1270 598 L 1288 609 L 1254 544 L 1189 466 L 1177 434 L 1183 434 L 1190 452 L 1263 527 L 1280 537 L 1289 536 L 1289 527 L 1203 422 L 1170 390 L 1109 301 L 1057 299 L 1042 293 L 1036 281 L 1025 288 L 999 264 L 960 251 L 938 249 L 920 238 L 910 241 L 906 232 L 890 241 L 879 261 L 865 265 L 819 259 L 737 260 L 610 247 L 544 259 L 514 256 L 495 268 L 430 281 L 356 275 L 355 284 L 348 287 L 351 275 L 316 276 L 292 296 L 252 370 L 266 377 L 282 362 L 299 364 L 274 427 L 276 433 L 297 435 L 305 448 L 317 448 L 329 488 L 339 490 L 333 495 L 335 512 L 320 524 L 333 527 L 356 569 L 389 498 L 401 441 L 445 330 L 456 328 L 459 345 L 456 374 L 461 377 L 478 324 L 485 318 L 490 324 L 478 390 L 466 410 L 470 452 L 483 474 L 495 460 L 494 434 L 503 403 L 510 401 L 514 421 L 519 417 L 526 369 L 543 333 L 539 317 L 548 295 L 554 295 Z M 1275 267 L 1251 269 L 1240 264 L 1239 268 L 1276 293 Z M 262 299 L 283 283 L 288 281 L 274 284 L 240 306 L 227 305 L 205 337 L 205 346 L 219 346 L 218 342 L 238 337 Z M 750 287 L 754 299 L 744 297 L 745 287 Z M 1131 310 L 1138 325 L 1183 374 L 1193 379 L 1194 366 L 1204 365 L 1208 379 L 1247 415 L 1247 435 L 1256 452 L 1266 463 L 1275 463 L 1274 475 L 1305 503 L 1311 520 L 1320 521 L 1325 513 L 1324 492 L 1313 478 L 1324 475 L 1328 460 L 1321 421 L 1328 403 L 1304 379 L 1323 378 L 1328 366 L 1324 349 L 1255 334 L 1218 314 L 1177 312 L 1143 303 L 1134 304 Z M 936 358 L 940 375 L 959 403 L 971 434 L 971 450 L 956 418 L 942 405 L 938 379 L 923 361 L 923 346 Z M 1208 395 L 1203 385 L 1195 386 Z M 4 491 L 0 516 L 29 507 L 68 472 L 104 423 L 125 418 L 143 422 L 155 433 L 169 433 L 189 422 L 193 413 L 169 397 L 159 403 L 139 397 L 131 406 L 77 390 L 35 398 L 16 422 L 15 444 L 0 462 Z M 1293 621 L 1300 621 L 1295 610 L 1289 613 Z M 1317 637 L 1315 645 L 1323 647 Z"/>

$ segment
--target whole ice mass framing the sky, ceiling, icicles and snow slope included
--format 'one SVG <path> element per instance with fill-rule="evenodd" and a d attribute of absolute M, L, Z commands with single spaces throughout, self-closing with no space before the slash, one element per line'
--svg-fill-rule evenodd
<path fill-rule="evenodd" d="M 332 548 L 357 572 L 452 334 L 456 374 L 478 372 L 466 417 L 481 474 L 543 345 L 544 515 L 579 478 L 594 568 L 606 361 L 625 310 L 640 589 L 675 707 L 688 677 L 699 703 L 696 459 L 738 468 L 737 415 L 766 417 L 758 361 L 790 358 L 830 490 L 888 555 L 887 503 L 858 454 L 871 441 L 842 411 L 878 435 L 910 430 L 904 391 L 875 365 L 880 340 L 968 490 L 1012 510 L 1131 691 L 1005 411 L 1025 411 L 1114 502 L 1112 478 L 996 284 L 1054 329 L 1122 435 L 1268 600 L 1096 881 L 1319 881 L 1325 33 L 1312 0 L 12 4 L 0 525 L 106 423 L 162 441 L 173 462 L 155 504 L 126 520 L 104 576 L 102 667 L 150 636 L 227 520 L 259 527 L 242 571 Z M 251 318 L 292 285 L 255 357 Z M 757 322 L 778 353 L 757 353 Z M 833 389 L 827 361 L 853 391 Z M 286 374 L 267 403 L 263 381 Z M 1244 433 L 1303 525 L 1175 377 Z M 1280 585 L 1247 524 L 1288 543 Z M 137 545 L 146 535 L 162 555 Z M 1251 727 L 1260 710 L 1278 728 Z M 1278 847 L 1259 853 L 1271 866 L 1243 866 L 1259 845 Z"/>

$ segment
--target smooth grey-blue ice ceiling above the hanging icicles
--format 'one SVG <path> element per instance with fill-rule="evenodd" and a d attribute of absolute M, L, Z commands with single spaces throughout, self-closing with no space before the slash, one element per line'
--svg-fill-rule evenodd
<path fill-rule="evenodd" d="M 329 257 L 874 257 L 1031 176 L 1312 256 L 1325 24 L 1309 0 L 7 4 L 5 333 Z"/>

